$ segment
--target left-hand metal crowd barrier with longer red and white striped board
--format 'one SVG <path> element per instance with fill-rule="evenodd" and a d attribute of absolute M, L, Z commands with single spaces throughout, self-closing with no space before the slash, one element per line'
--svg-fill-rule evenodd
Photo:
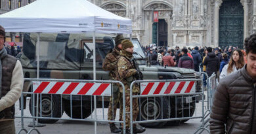
<path fill-rule="evenodd" d="M 35 120 L 41 120 L 41 122 L 45 122 L 45 120 L 48 120 L 48 122 L 56 122 L 56 120 L 114 122 L 123 123 L 125 126 L 125 107 L 123 107 L 123 121 L 108 120 L 108 117 L 104 115 L 104 99 L 109 99 L 108 97 L 114 96 L 114 93 L 112 92 L 114 86 L 119 84 L 119 86 L 123 88 L 123 98 L 125 98 L 125 87 L 119 81 L 41 78 L 24 78 L 24 81 L 32 82 L 32 91 L 22 92 L 20 101 L 21 116 L 16 116 L 16 118 L 21 118 L 22 128 L 18 133 L 21 133 L 22 131 L 25 131 L 26 133 L 32 133 L 32 131 L 40 133 L 39 130 L 35 128 Z M 31 96 L 30 112 L 32 116 L 24 116 L 24 95 Z M 95 97 L 94 101 L 93 97 Z M 102 99 L 102 115 L 100 116 L 96 113 L 97 99 Z M 56 103 L 57 101 L 58 103 Z M 74 105 L 75 103 L 78 103 L 78 105 Z M 125 99 L 123 99 L 123 104 L 125 104 Z M 51 105 L 51 108 L 49 105 Z M 69 118 L 62 117 L 64 111 L 70 116 Z M 80 112 L 81 115 L 75 112 Z M 29 131 L 24 128 L 24 118 L 32 119 L 33 128 Z M 95 123 L 95 133 L 96 131 Z"/>

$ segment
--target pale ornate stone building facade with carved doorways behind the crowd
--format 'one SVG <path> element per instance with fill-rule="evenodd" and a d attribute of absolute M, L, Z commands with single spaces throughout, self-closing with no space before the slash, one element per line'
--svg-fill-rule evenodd
<path fill-rule="evenodd" d="M 35 0 L 0 0 L 0 14 Z M 143 46 L 239 46 L 256 32 L 256 0 L 88 0 L 131 18 Z M 158 11 L 158 22 L 153 12 Z"/>

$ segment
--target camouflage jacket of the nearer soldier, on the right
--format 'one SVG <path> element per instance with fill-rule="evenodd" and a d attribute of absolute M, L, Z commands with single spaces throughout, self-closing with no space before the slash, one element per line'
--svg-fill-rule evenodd
<path fill-rule="evenodd" d="M 136 69 L 133 66 L 133 63 L 125 54 L 123 54 L 122 50 L 120 52 L 119 58 L 117 58 L 117 72 L 118 80 L 120 80 L 125 86 L 125 93 L 130 93 L 131 82 L 135 80 L 134 75 L 137 73 Z M 123 90 L 119 90 L 119 92 L 123 92 Z M 139 93 L 139 86 L 133 86 L 133 93 Z"/>

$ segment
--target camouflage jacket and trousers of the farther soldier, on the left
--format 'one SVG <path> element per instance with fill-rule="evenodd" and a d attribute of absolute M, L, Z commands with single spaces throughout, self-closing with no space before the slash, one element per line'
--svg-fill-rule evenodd
<path fill-rule="evenodd" d="M 117 50 L 117 48 L 114 48 L 112 52 L 106 55 L 106 58 L 104 59 L 104 62 L 102 64 L 102 69 L 104 69 L 104 71 L 110 71 L 109 73 L 110 80 L 117 80 L 116 78 L 117 56 L 119 56 L 119 50 Z M 116 109 L 119 103 L 119 99 L 120 99 L 119 89 L 116 85 L 114 85 L 112 90 L 112 96 L 110 96 L 110 101 L 108 106 L 108 120 L 115 120 Z M 119 120 L 121 120 L 121 118 L 119 118 Z"/>

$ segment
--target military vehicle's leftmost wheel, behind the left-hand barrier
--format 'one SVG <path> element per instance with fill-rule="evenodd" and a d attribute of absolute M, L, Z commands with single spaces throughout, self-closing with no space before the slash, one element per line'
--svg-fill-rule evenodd
<path fill-rule="evenodd" d="M 51 103 L 52 102 L 52 103 Z M 35 95 L 35 103 L 33 109 L 36 111 L 37 95 Z M 32 114 L 32 99 L 30 99 L 30 114 Z M 60 118 L 63 114 L 60 107 L 60 95 L 39 95 L 38 102 L 38 112 L 39 117 L 54 117 Z M 42 114 L 42 115 L 41 115 Z M 49 120 L 49 119 L 38 119 L 38 122 L 41 124 L 53 124 L 58 120 Z"/>

